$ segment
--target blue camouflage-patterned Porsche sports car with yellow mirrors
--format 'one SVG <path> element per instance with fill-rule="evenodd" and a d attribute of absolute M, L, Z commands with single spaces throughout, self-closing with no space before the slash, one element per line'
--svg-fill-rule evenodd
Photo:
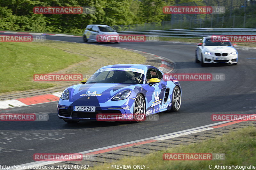
<path fill-rule="evenodd" d="M 89 80 L 65 89 L 58 103 L 58 117 L 67 123 L 94 119 L 141 122 L 151 114 L 178 111 L 181 87 L 156 67 L 118 64 L 97 70 Z M 99 116 L 100 115 L 100 116 Z M 105 117 L 104 117 L 105 116 Z"/>

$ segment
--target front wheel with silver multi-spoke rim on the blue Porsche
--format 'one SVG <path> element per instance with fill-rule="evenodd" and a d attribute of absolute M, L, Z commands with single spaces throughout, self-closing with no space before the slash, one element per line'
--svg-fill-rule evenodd
<path fill-rule="evenodd" d="M 141 94 L 138 94 L 134 101 L 132 123 L 140 123 L 145 119 L 145 117 L 146 117 L 145 99 Z"/>

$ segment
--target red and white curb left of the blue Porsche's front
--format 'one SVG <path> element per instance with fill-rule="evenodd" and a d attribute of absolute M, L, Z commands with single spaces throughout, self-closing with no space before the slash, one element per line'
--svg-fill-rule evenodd
<path fill-rule="evenodd" d="M 60 99 L 61 94 L 62 92 L 57 92 L 49 95 L 40 95 L 40 96 L 25 97 L 20 99 L 4 100 L 4 101 L 0 101 L 0 109 L 58 101 Z"/>

